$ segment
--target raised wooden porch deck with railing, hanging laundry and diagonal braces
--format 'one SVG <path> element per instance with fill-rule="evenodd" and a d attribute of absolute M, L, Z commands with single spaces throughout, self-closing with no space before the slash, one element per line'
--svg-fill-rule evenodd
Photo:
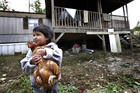
<path fill-rule="evenodd" d="M 69 11 L 74 11 L 71 14 Z M 105 35 L 114 35 L 119 38 L 119 34 L 130 34 L 128 16 L 112 15 L 112 13 L 101 13 L 88 10 L 70 9 L 54 7 L 52 16 L 52 27 L 55 33 L 55 41 L 60 39 L 72 39 L 76 37 L 86 40 L 88 36 L 97 36 L 102 41 L 102 47 L 106 51 Z M 109 32 L 109 29 L 113 29 Z M 68 37 L 66 35 L 68 33 Z M 65 34 L 65 35 L 64 35 Z M 76 36 L 76 34 L 78 36 Z M 85 36 L 84 36 L 85 35 Z M 114 39 L 113 38 L 113 39 Z M 115 40 L 113 42 L 119 42 Z M 116 44 L 116 43 L 115 43 Z M 117 48 L 116 48 L 117 49 Z M 116 51 L 115 51 L 116 52 Z M 121 52 L 121 50 L 117 50 Z"/>

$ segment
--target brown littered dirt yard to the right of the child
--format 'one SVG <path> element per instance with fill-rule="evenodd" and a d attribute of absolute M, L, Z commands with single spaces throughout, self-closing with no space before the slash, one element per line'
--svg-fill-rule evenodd
<path fill-rule="evenodd" d="M 70 64 L 66 63 L 66 59 L 75 58 L 75 56 L 80 57 L 71 60 Z M 140 82 L 140 52 L 112 54 L 95 51 L 93 54 L 68 54 L 64 56 L 64 60 L 62 83 L 76 86 L 79 89 L 77 93 L 83 93 L 87 89 L 93 90 L 92 85 L 122 82 L 122 76 L 128 76 Z M 135 89 L 131 90 L 135 93 Z"/>

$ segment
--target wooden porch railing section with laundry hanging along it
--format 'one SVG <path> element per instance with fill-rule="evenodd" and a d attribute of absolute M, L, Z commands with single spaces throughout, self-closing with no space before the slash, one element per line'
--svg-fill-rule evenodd
<path fill-rule="evenodd" d="M 106 32 L 107 29 L 112 28 L 115 31 L 129 30 L 128 16 L 71 9 L 75 11 L 75 14 L 72 16 L 67 9 L 54 7 L 54 22 L 52 22 L 55 32 Z"/>

